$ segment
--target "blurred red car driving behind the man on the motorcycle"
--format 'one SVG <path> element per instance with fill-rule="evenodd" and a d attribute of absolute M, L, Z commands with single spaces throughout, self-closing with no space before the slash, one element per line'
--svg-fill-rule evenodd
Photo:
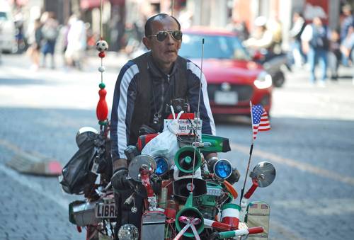
<path fill-rule="evenodd" d="M 202 71 L 214 115 L 250 115 L 249 101 L 261 103 L 270 112 L 272 78 L 253 62 L 236 35 L 227 30 L 189 28 L 183 30 L 178 54 L 200 66 L 202 39 L 204 53 Z"/>

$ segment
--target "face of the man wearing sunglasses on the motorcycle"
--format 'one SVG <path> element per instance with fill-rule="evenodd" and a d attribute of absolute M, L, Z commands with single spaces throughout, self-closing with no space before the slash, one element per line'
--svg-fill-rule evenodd
<path fill-rule="evenodd" d="M 163 30 L 178 30 L 178 24 L 171 18 L 156 18 L 152 22 L 152 35 L 156 35 Z M 156 39 L 156 36 L 148 37 L 144 42 L 147 47 L 152 50 L 152 56 L 159 64 L 170 65 L 176 61 L 178 50 L 181 47 L 182 40 L 176 40 L 171 36 L 171 33 L 167 34 L 167 37 L 163 41 Z"/>

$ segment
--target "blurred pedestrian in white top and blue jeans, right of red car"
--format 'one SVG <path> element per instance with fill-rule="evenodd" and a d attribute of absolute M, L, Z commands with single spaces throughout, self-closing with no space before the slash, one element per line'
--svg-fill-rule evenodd
<path fill-rule="evenodd" d="M 327 54 L 329 50 L 329 38 L 327 28 L 322 23 L 321 18 L 315 17 L 312 24 L 304 28 L 301 35 L 302 48 L 307 53 L 307 60 L 310 67 L 310 82 L 316 83 L 315 68 L 317 62 L 321 65 L 321 81 L 319 86 L 326 86 L 327 79 Z"/>

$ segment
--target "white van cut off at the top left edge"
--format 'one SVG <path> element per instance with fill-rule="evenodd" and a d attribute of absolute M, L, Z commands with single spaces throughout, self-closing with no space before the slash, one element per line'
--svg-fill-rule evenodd
<path fill-rule="evenodd" d="M 11 8 L 6 1 L 0 0 L 0 51 L 16 52 L 16 27 Z"/>

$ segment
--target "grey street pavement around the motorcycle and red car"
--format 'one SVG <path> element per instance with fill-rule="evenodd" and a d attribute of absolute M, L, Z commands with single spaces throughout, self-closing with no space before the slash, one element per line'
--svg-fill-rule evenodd
<path fill-rule="evenodd" d="M 25 55 L 3 55 L 0 65 L 0 239 L 84 239 L 69 223 L 67 205 L 81 196 L 62 193 L 57 178 L 22 175 L 5 164 L 21 152 L 40 153 L 64 165 L 77 150 L 76 131 L 98 128 L 96 104 L 100 59 L 86 58 L 83 71 L 30 70 Z M 103 81 L 111 105 L 115 79 L 126 58 L 103 59 Z M 270 203 L 270 239 L 352 239 L 354 236 L 354 85 L 351 69 L 325 88 L 309 84 L 306 69 L 286 72 L 273 91 L 272 130 L 259 132 L 251 169 L 270 161 L 277 176 L 251 200 Z M 240 193 L 249 159 L 248 118 L 217 121 L 229 137 L 230 159 L 240 173 Z M 251 185 L 250 179 L 246 189 Z"/>

